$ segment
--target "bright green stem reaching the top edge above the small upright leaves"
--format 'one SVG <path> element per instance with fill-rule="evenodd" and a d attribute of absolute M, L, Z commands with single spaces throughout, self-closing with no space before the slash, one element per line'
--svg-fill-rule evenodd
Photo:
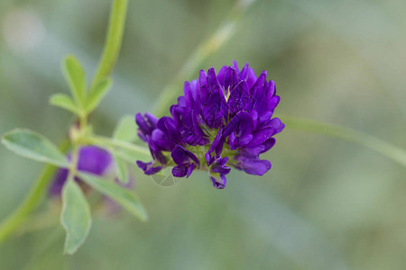
<path fill-rule="evenodd" d="M 109 76 L 115 67 L 115 61 L 118 58 L 123 40 L 127 5 L 128 0 L 115 0 L 112 4 L 106 44 L 92 85 L 95 85 L 98 80 Z"/>

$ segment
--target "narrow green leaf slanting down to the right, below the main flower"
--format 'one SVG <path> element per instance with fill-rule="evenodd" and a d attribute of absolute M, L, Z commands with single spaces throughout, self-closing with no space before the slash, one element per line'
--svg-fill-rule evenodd
<path fill-rule="evenodd" d="M 89 184 L 91 187 L 96 189 L 98 192 L 105 194 L 106 196 L 115 200 L 120 205 L 122 205 L 126 210 L 134 214 L 135 217 L 140 220 L 147 220 L 148 216 L 143 208 L 143 205 L 134 193 L 121 187 L 118 184 L 109 182 L 107 179 L 100 178 L 96 175 L 89 175 L 86 173 L 78 174 L 80 179 Z"/>

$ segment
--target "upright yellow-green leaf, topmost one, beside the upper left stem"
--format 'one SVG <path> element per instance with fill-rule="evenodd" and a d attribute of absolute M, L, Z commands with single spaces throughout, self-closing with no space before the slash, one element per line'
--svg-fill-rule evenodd
<path fill-rule="evenodd" d="M 63 73 L 69 84 L 73 98 L 80 108 L 86 102 L 86 74 L 77 58 L 70 55 L 63 62 Z"/>

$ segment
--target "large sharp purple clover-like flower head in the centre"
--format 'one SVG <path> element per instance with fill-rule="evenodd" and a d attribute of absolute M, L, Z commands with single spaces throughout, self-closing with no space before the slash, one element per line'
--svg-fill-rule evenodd
<path fill-rule="evenodd" d="M 285 127 L 272 114 L 280 101 L 266 71 L 255 76 L 248 63 L 200 70 L 197 80 L 185 82 L 184 95 L 171 106 L 171 117 L 137 113 L 138 135 L 149 146 L 152 161 L 137 161 L 146 175 L 173 166 L 172 175 L 189 177 L 208 171 L 216 188 L 226 186 L 230 166 L 250 175 L 263 175 L 271 162 L 260 155 L 275 144 L 273 136 Z"/>

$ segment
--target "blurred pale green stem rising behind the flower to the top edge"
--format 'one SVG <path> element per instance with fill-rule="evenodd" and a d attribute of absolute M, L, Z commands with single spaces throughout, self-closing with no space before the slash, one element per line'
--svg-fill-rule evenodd
<path fill-rule="evenodd" d="M 153 109 L 156 115 L 161 116 L 168 112 L 169 104 L 181 93 L 183 89 L 181 85 L 183 85 L 184 80 L 189 79 L 190 76 L 195 74 L 203 61 L 226 44 L 226 41 L 234 35 L 241 16 L 255 1 L 256 0 L 238 1 L 223 23 L 218 26 L 217 30 L 208 37 L 208 39 L 205 39 L 198 45 L 198 48 L 192 52 L 171 84 L 162 90 L 160 98 L 157 103 L 155 103 Z"/>

